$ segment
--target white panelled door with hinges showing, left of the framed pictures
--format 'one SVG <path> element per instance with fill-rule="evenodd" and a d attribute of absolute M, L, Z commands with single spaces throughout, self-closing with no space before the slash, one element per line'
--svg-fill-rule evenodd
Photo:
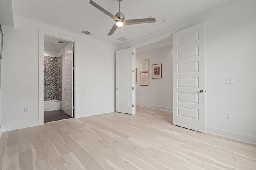
<path fill-rule="evenodd" d="M 116 111 L 135 114 L 135 49 L 116 51 Z"/>

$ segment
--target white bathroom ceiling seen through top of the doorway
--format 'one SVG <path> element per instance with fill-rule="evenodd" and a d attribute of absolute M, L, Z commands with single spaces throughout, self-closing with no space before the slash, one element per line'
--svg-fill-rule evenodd
<path fill-rule="evenodd" d="M 63 43 L 58 43 L 59 41 L 62 41 Z M 63 39 L 44 35 L 44 49 L 60 51 L 60 49 L 62 49 L 62 47 L 64 47 L 67 43 L 68 41 L 65 41 Z"/>

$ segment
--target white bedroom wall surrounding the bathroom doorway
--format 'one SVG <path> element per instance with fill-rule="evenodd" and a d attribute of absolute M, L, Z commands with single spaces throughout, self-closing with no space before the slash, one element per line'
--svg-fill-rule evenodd
<path fill-rule="evenodd" d="M 14 16 L 14 20 L 15 28 L 2 26 L 6 40 L 1 61 L 3 131 L 36 125 L 31 122 L 38 121 L 39 29 L 76 39 L 76 117 L 114 111 L 117 46 L 20 16 Z M 25 113 L 24 107 L 29 107 L 29 112 Z"/>

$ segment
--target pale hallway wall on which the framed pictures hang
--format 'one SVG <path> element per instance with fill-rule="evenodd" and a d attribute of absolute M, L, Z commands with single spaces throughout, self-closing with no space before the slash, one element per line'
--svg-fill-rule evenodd
<path fill-rule="evenodd" d="M 149 59 L 148 86 L 140 86 L 140 61 Z M 152 79 L 152 64 L 162 64 L 162 78 Z M 172 111 L 172 45 L 136 53 L 136 106 Z"/>

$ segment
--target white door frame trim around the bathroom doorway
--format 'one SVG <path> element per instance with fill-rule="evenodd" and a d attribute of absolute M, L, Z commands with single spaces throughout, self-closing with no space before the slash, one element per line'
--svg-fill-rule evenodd
<path fill-rule="evenodd" d="M 73 43 L 73 106 L 74 106 L 74 119 L 76 119 L 76 38 L 68 37 L 66 35 L 61 35 L 58 33 L 46 31 L 44 29 L 39 29 L 39 54 L 38 54 L 38 109 L 39 115 L 38 120 L 40 124 L 44 124 L 44 35 L 50 37 L 56 37 L 59 39 L 64 39 Z"/>

